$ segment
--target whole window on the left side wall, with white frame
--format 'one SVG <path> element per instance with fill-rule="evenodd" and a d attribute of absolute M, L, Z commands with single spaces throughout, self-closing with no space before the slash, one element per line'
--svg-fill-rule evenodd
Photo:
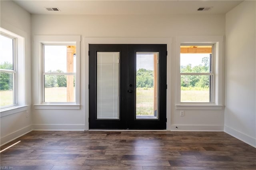
<path fill-rule="evenodd" d="M 18 34 L 0 28 L 0 117 L 27 109 L 22 37 L 25 34 L 22 31 Z"/>

